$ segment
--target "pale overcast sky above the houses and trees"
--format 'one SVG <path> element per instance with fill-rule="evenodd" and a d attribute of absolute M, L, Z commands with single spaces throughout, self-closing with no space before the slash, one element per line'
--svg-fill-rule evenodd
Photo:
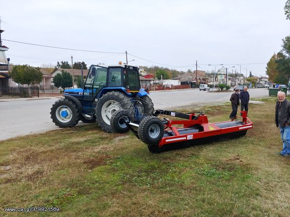
<path fill-rule="evenodd" d="M 286 0 L 1 1 L 3 44 L 14 64 L 159 65 L 177 70 L 235 66 L 265 76 L 290 35 Z M 6 40 L 97 53 L 55 49 Z M 115 53 L 114 53 L 115 52 Z M 134 55 L 134 56 L 133 56 Z M 149 61 L 148 61 L 149 60 Z M 241 64 L 238 65 L 238 64 Z M 216 69 L 220 68 L 217 66 Z"/>

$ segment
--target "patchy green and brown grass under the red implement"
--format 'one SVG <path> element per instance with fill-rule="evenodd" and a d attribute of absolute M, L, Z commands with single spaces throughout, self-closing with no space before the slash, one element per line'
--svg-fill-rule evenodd
<path fill-rule="evenodd" d="M 250 104 L 246 136 L 160 154 L 97 124 L 1 141 L 0 216 L 26 216 L 4 207 L 31 206 L 61 211 L 30 216 L 289 216 L 275 97 L 256 100 L 265 103 Z M 231 111 L 228 103 L 202 110 L 210 122 Z"/>

